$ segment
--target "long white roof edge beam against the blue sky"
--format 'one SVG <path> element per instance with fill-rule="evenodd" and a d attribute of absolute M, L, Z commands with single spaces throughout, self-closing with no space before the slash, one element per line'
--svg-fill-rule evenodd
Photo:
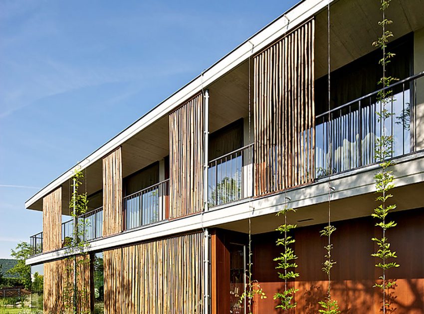
<path fill-rule="evenodd" d="M 137 120 L 134 124 L 130 125 L 127 129 L 112 138 L 105 145 L 94 151 L 91 155 L 84 158 L 71 169 L 38 191 L 25 202 L 25 208 L 30 208 L 31 205 L 40 198 L 71 178 L 73 175 L 73 169 L 84 169 L 98 159 L 112 152 L 125 141 L 129 140 L 131 137 L 147 128 L 164 115 L 168 114 L 170 111 L 174 110 L 176 107 L 181 105 L 182 102 L 199 93 L 202 90 L 202 87 L 212 84 L 213 81 L 217 80 L 219 77 L 247 60 L 247 58 L 252 54 L 259 52 L 284 33 L 293 29 L 296 25 L 312 17 L 314 14 L 323 9 L 328 4 L 328 1 L 333 2 L 336 0 L 304 0 L 278 17 L 271 24 L 265 26 L 265 28 L 261 31 L 250 37 L 236 49 L 212 65 L 212 67 L 203 73 L 203 78 L 201 76 L 195 78 L 142 118 Z"/>

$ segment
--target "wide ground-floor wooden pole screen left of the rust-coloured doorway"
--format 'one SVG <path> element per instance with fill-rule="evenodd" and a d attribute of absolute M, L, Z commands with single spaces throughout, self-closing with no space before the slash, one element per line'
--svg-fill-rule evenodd
<path fill-rule="evenodd" d="M 203 233 L 103 254 L 105 313 L 203 312 Z"/>

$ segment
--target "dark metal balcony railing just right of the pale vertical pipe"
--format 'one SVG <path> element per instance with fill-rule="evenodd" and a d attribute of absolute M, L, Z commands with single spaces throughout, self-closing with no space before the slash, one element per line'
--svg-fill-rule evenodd
<path fill-rule="evenodd" d="M 253 144 L 209 161 L 210 207 L 253 195 Z"/>

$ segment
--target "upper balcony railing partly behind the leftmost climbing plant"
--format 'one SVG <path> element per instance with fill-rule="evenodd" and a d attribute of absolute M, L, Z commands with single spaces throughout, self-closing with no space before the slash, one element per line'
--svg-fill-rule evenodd
<path fill-rule="evenodd" d="M 78 230 L 76 236 L 82 241 L 91 241 L 101 238 L 103 234 L 103 207 L 96 208 L 77 218 Z M 62 222 L 62 243 L 71 242 L 75 235 L 73 219 Z"/>

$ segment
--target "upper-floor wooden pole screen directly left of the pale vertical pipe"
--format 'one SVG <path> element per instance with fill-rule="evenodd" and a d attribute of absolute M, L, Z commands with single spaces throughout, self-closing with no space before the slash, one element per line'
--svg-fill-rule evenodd
<path fill-rule="evenodd" d="M 170 219 L 173 219 L 203 208 L 203 94 L 171 113 L 169 126 Z"/>

